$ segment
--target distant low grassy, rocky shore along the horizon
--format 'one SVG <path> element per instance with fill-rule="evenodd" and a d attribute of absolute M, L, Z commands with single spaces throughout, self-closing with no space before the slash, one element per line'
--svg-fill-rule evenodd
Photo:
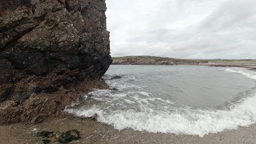
<path fill-rule="evenodd" d="M 153 56 L 113 57 L 113 65 L 202 65 L 256 69 L 256 59 L 179 59 Z"/>

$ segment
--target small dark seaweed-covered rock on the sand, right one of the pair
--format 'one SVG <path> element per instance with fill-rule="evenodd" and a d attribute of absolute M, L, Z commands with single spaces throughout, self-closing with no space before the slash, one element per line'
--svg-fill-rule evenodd
<path fill-rule="evenodd" d="M 60 138 L 59 138 L 59 142 L 61 143 L 67 143 L 69 141 L 73 141 L 73 140 L 77 140 L 79 139 L 79 132 L 78 130 L 69 130 L 66 133 L 63 133 Z"/>

